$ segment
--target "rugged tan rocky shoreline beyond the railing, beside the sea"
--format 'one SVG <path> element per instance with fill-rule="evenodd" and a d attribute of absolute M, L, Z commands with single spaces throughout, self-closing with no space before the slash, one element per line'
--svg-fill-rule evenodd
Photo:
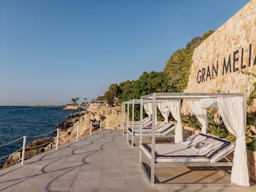
<path fill-rule="evenodd" d="M 119 107 L 108 107 L 106 105 L 92 104 L 86 111 L 68 114 L 65 121 L 60 122 L 57 129 L 60 129 L 59 145 L 75 141 L 77 137 L 77 127 L 79 128 L 78 137 L 90 134 L 90 124 L 92 132 L 97 131 L 102 123 L 102 129 L 121 129 L 121 109 Z M 56 132 L 50 137 L 37 139 L 26 146 L 25 159 L 31 158 L 36 154 L 53 149 L 56 146 Z M 21 162 L 22 149 L 14 152 L 9 158 L 0 164 L 0 169 L 4 169 L 13 164 Z"/>

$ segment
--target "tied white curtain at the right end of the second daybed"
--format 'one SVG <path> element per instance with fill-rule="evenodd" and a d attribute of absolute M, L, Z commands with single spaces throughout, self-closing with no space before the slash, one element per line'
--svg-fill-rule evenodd
<path fill-rule="evenodd" d="M 177 121 L 174 142 L 178 143 L 183 139 L 183 130 L 181 124 L 181 100 L 169 101 L 169 110 L 171 111 L 171 115 Z"/>

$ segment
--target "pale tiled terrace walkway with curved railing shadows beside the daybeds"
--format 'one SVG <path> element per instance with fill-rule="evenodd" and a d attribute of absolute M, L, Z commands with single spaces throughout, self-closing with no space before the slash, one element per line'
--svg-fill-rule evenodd
<path fill-rule="evenodd" d="M 104 130 L 60 146 L 0 171 L 0 191 L 255 191 L 256 187 L 151 188 L 138 164 L 139 149 L 130 148 L 121 131 Z M 177 171 L 177 169 L 173 169 Z M 159 181 L 171 169 L 160 169 Z M 184 170 L 183 170 L 184 171 Z M 196 171 L 189 178 L 198 178 Z M 183 173 L 183 172 L 182 172 Z M 185 170 L 186 173 L 186 170 Z M 186 174 L 181 174 L 181 176 Z M 206 171 L 206 177 L 214 173 Z M 161 176 L 163 176 L 161 178 Z M 223 177 L 223 176 L 222 176 Z M 225 177 L 225 176 L 224 176 Z M 179 178 L 181 179 L 181 178 Z M 193 180 L 192 179 L 192 180 Z M 226 178 L 225 178 L 226 179 Z"/>

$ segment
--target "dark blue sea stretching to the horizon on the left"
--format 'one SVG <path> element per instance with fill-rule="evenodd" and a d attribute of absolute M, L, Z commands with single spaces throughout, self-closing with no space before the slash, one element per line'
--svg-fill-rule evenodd
<path fill-rule="evenodd" d="M 23 136 L 33 137 L 52 132 L 71 113 L 75 111 L 64 111 L 61 107 L 0 106 L 0 162 L 6 160 L 2 157 L 20 149 L 23 139 L 7 146 L 2 144 Z M 29 138 L 27 144 L 38 138 Z"/>

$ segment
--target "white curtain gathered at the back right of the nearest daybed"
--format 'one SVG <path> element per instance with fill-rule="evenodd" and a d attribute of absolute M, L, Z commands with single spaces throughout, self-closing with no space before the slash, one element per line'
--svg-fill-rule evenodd
<path fill-rule="evenodd" d="M 187 101 L 189 107 L 193 111 L 193 114 L 195 114 L 198 121 L 202 124 L 201 132 L 203 134 L 206 134 L 207 127 L 208 127 L 208 118 L 207 118 L 207 110 L 206 108 L 201 107 L 201 102 L 199 100 L 196 101 Z"/>

